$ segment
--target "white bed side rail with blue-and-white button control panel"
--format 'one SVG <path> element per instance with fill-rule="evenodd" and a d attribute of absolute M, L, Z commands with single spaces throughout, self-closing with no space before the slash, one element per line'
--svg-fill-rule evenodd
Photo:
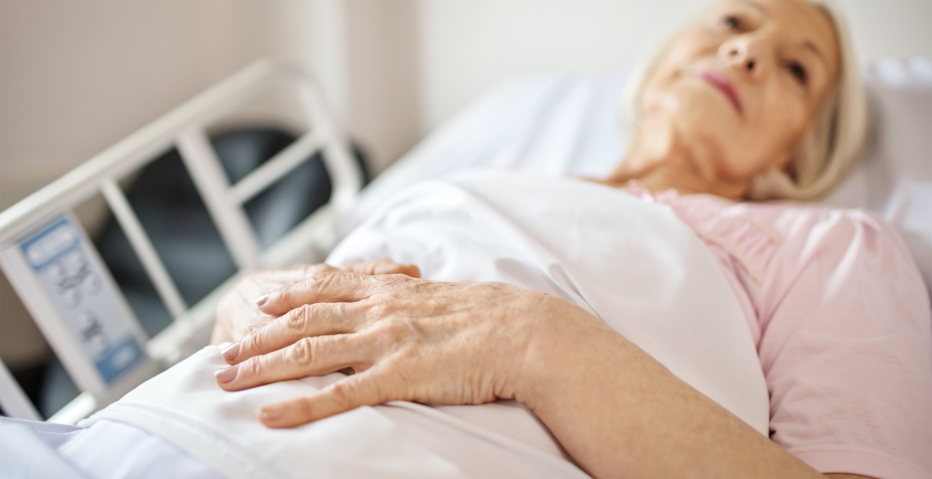
<path fill-rule="evenodd" d="M 231 182 L 228 165 L 219 160 L 208 130 L 256 103 L 274 103 L 269 97 L 282 96 L 295 100 L 297 123 L 306 125 L 307 131 Z M 146 229 L 152 225 L 141 221 L 139 204 L 130 204 L 132 188 L 124 187 L 144 180 L 147 167 L 172 156 L 184 164 L 174 172 L 186 172 L 207 212 L 201 223 L 215 227 L 232 265 L 232 274 L 222 278 L 225 281 L 210 293 L 194 297 L 179 287 L 185 278 L 172 274 L 177 271 L 165 261 L 166 252 L 158 251 L 151 227 Z M 314 159 L 322 161 L 326 172 L 326 204 L 281 238 L 262 238 L 254 227 L 255 219 L 247 214 L 251 201 Z M 74 422 L 85 417 L 203 346 L 217 301 L 246 272 L 320 261 L 333 247 L 336 219 L 349 210 L 362 185 L 363 171 L 316 87 L 295 70 L 262 61 L 0 213 L 0 249 L 7 279 L 80 390 L 51 419 Z M 179 192 L 167 190 L 165 194 Z M 158 302 L 168 312 L 171 323 L 166 327 L 153 331 L 138 321 L 140 310 L 130 307 L 126 289 L 117 284 L 112 268 L 104 266 L 75 216 L 74 211 L 95 196 L 103 197 Z M 0 407 L 8 416 L 42 418 L 2 364 Z"/>

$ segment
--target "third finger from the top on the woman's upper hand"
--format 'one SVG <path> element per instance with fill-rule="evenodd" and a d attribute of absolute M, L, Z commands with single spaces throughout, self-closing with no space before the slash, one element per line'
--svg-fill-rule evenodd
<path fill-rule="evenodd" d="M 215 373 L 224 390 L 246 390 L 286 379 L 321 376 L 346 367 L 371 364 L 369 343 L 355 335 L 305 337 L 295 344 L 221 369 Z"/>

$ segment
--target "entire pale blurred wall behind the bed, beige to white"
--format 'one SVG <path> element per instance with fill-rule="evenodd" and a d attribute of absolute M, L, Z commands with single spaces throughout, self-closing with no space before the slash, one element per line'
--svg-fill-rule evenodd
<path fill-rule="evenodd" d="M 862 62 L 932 56 L 932 1 L 839 1 Z M 630 69 L 709 3 L 0 0 L 0 209 L 260 57 L 315 75 L 380 171 L 483 90 Z M 0 280 L 0 349 L 28 362 L 11 294 Z"/>

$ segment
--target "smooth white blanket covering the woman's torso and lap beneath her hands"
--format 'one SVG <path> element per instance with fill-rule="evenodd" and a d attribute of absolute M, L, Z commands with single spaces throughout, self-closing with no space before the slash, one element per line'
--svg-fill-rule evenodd
<path fill-rule="evenodd" d="M 664 205 L 580 180 L 468 172 L 395 195 L 328 262 L 382 257 L 416 264 L 426 279 L 559 294 L 767 432 L 767 390 L 737 300 L 712 254 Z M 340 375 L 226 392 L 212 377 L 224 365 L 218 349 L 203 349 L 89 422 L 152 431 L 229 477 L 584 477 L 514 402 L 394 402 L 268 430 L 254 418 L 261 404 Z"/>

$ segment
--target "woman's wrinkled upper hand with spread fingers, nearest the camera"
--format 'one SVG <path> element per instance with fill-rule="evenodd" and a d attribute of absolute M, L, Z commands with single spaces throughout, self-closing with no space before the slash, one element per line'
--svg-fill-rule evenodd
<path fill-rule="evenodd" d="M 404 275 L 320 271 L 258 298 L 282 315 L 224 351 L 225 390 L 352 368 L 308 397 L 270 404 L 260 418 L 291 427 L 391 400 L 480 404 L 520 401 L 535 376 L 528 358 L 558 355 L 585 332 L 614 334 L 552 294 L 497 282 L 435 282 Z M 561 336 L 565 341 L 551 341 Z M 579 343 L 577 343 L 579 344 Z"/>

